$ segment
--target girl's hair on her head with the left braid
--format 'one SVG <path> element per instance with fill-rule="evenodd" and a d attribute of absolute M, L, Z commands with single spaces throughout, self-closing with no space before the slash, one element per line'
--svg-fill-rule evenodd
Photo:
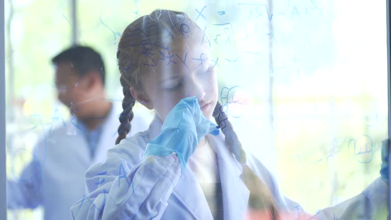
<path fill-rule="evenodd" d="M 183 34 L 183 30 L 180 31 L 180 26 L 184 20 L 190 19 L 182 12 L 155 10 L 150 15 L 139 17 L 130 23 L 123 32 L 118 43 L 117 60 L 124 99 L 116 144 L 125 139 L 130 132 L 130 122 L 134 115 L 132 109 L 135 104 L 135 98 L 131 95 L 130 88 L 141 88 L 142 72 L 154 71 L 150 67 L 155 66 L 156 63 L 150 59 L 150 54 L 153 49 L 156 49 L 153 48 L 153 45 L 162 45 L 165 41 L 161 38 L 161 30 L 170 30 L 170 25 L 173 25 L 173 31 L 170 34 L 175 39 L 176 36 Z M 142 54 L 146 56 L 141 56 Z M 159 53 L 156 52 L 156 54 Z"/>

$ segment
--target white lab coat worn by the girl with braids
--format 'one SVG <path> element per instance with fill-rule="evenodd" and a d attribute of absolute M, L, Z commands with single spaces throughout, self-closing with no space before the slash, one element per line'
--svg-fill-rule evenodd
<path fill-rule="evenodd" d="M 181 175 L 176 155 L 148 156 L 146 145 L 160 132 L 161 121 L 155 117 L 149 129 L 122 140 L 107 152 L 105 163 L 94 164 L 86 174 L 90 194 L 71 208 L 74 219 L 213 219 L 200 184 L 189 166 Z M 224 143 L 224 135 L 208 140 L 216 152 L 224 219 L 243 219 L 247 211 L 249 190 L 240 175 L 241 165 Z M 302 208 L 283 196 L 276 181 L 262 163 L 252 156 L 248 165 L 269 187 L 282 213 L 303 214 Z M 386 210 L 387 184 L 375 180 L 364 193 L 331 208 L 321 210 L 314 219 L 359 219 L 366 203 L 372 216 Z M 314 202 L 321 200 L 314 195 Z M 380 218 L 380 219 L 384 219 Z M 292 218 L 289 218 L 292 219 Z M 307 218 L 306 218 L 307 219 Z M 377 218 L 376 218 L 377 219 Z"/>

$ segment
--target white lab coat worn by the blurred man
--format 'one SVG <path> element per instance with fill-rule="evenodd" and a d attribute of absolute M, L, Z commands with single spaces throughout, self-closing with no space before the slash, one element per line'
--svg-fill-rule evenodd
<path fill-rule="evenodd" d="M 70 207 L 87 192 L 85 174 L 88 168 L 106 159 L 106 151 L 115 146 L 122 112 L 120 103 L 113 103 L 108 118 L 102 124 L 101 136 L 94 158 L 83 134 L 77 130 L 68 135 L 64 126 L 53 129 L 34 149 L 34 159 L 19 181 L 7 181 L 8 208 L 44 207 L 45 219 L 71 219 Z M 131 122 L 132 135 L 148 128 L 148 121 L 135 114 Z M 67 126 L 74 126 L 67 123 Z"/>

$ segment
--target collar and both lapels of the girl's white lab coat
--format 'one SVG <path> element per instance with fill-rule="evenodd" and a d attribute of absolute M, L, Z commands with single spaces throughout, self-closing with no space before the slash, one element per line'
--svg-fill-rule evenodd
<path fill-rule="evenodd" d="M 150 140 L 160 133 L 162 121 L 155 115 L 149 126 Z M 217 155 L 217 164 L 220 173 L 224 219 L 243 219 L 247 210 L 249 190 L 240 178 L 243 170 L 233 154 L 229 152 L 225 144 L 225 136 L 207 135 L 208 141 Z M 194 174 L 186 165 L 173 195 L 186 207 L 192 215 L 198 219 L 212 219 L 208 203 L 205 199 L 200 184 Z"/>

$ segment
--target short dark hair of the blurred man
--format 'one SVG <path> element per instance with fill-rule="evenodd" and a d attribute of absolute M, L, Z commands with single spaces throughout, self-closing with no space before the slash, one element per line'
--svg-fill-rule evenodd
<path fill-rule="evenodd" d="M 79 77 L 85 76 L 89 71 L 96 70 L 104 85 L 105 70 L 102 57 L 91 47 L 72 46 L 60 52 L 51 59 L 53 64 L 70 63 Z"/>

